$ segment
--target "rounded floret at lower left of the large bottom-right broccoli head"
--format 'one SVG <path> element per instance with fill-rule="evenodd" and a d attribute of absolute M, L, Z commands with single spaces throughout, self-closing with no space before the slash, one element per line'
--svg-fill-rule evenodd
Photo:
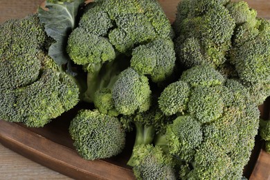
<path fill-rule="evenodd" d="M 170 154 L 177 155 L 185 161 L 191 161 L 195 155 L 195 149 L 203 140 L 201 123 L 192 116 L 179 116 L 172 125 L 168 125 L 166 139 Z"/>

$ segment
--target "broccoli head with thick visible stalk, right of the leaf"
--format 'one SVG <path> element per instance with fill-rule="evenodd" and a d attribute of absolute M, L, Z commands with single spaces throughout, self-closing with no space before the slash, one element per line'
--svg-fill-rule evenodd
<path fill-rule="evenodd" d="M 66 51 L 87 72 L 82 100 L 114 116 L 149 109 L 148 79 L 163 82 L 176 59 L 170 21 L 152 0 L 87 4 Z"/>

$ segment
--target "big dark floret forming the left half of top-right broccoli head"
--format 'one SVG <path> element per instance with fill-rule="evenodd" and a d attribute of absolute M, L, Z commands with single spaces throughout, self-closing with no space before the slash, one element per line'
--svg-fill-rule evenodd
<path fill-rule="evenodd" d="M 231 47 L 235 21 L 225 8 L 227 1 L 183 1 L 173 27 L 179 60 L 190 68 L 198 64 L 220 66 Z"/>

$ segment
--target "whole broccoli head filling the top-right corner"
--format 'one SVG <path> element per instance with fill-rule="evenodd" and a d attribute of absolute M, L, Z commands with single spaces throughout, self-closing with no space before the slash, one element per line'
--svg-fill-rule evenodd
<path fill-rule="evenodd" d="M 180 64 L 208 64 L 240 80 L 261 105 L 270 96 L 269 20 L 244 1 L 184 0 L 173 27 Z"/>

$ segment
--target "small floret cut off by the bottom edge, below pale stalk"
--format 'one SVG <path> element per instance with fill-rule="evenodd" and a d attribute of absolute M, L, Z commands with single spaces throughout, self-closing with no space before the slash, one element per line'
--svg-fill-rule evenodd
<path fill-rule="evenodd" d="M 136 179 L 177 179 L 172 157 L 160 147 L 138 145 L 134 148 L 134 175 Z"/>

